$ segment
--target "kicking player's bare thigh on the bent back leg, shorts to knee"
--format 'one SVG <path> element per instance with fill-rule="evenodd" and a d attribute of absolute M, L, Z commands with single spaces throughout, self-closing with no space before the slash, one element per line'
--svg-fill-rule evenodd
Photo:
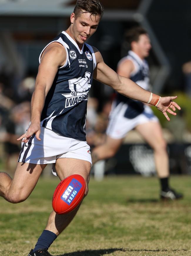
<path fill-rule="evenodd" d="M 26 199 L 33 191 L 46 164 L 18 163 L 9 193 L 18 193 Z"/>

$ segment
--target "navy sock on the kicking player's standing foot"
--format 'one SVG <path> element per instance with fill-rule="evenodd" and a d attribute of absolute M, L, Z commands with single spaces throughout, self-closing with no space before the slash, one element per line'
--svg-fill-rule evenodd
<path fill-rule="evenodd" d="M 57 235 L 49 230 L 43 230 L 41 236 L 38 238 L 38 241 L 33 249 L 33 252 L 37 251 L 38 249 L 48 248 L 51 246 L 51 244 L 56 239 Z"/>

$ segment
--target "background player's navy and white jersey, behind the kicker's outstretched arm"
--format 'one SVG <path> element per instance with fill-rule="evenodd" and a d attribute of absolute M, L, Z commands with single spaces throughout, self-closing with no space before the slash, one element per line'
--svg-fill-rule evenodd
<path fill-rule="evenodd" d="M 118 64 L 125 60 L 131 60 L 135 66 L 135 70 L 130 74 L 130 79 L 138 84 L 140 87 L 148 90 L 149 89 L 149 67 L 146 60 L 142 60 L 133 51 L 128 52 L 128 56 L 122 58 Z M 144 111 L 144 103 L 136 100 L 132 100 L 125 97 L 122 94 L 117 93 L 114 107 L 116 107 L 120 102 L 126 103 L 127 110 L 124 116 L 127 118 L 135 118 L 137 115 Z"/>

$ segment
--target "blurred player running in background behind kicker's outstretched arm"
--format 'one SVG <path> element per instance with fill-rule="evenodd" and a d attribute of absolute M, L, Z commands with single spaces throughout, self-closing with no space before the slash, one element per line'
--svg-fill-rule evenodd
<path fill-rule="evenodd" d="M 119 61 L 117 73 L 148 90 L 149 67 L 145 58 L 149 56 L 151 49 L 149 36 L 142 27 L 134 27 L 126 33 L 126 40 L 131 50 L 128 56 Z M 92 151 L 93 164 L 98 160 L 114 156 L 126 134 L 132 129 L 140 133 L 154 150 L 155 168 L 161 184 L 160 198 L 172 200 L 182 198 L 182 194 L 169 186 L 169 159 L 159 120 L 149 105 L 143 102 L 116 94 L 105 143 Z"/>

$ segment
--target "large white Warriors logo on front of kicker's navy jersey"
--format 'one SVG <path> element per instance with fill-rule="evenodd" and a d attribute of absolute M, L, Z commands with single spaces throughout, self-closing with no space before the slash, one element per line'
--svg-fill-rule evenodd
<path fill-rule="evenodd" d="M 91 73 L 86 72 L 84 76 L 68 80 L 71 93 L 62 94 L 66 97 L 65 108 L 74 106 L 83 100 L 88 100 L 88 92 L 91 87 Z"/>

